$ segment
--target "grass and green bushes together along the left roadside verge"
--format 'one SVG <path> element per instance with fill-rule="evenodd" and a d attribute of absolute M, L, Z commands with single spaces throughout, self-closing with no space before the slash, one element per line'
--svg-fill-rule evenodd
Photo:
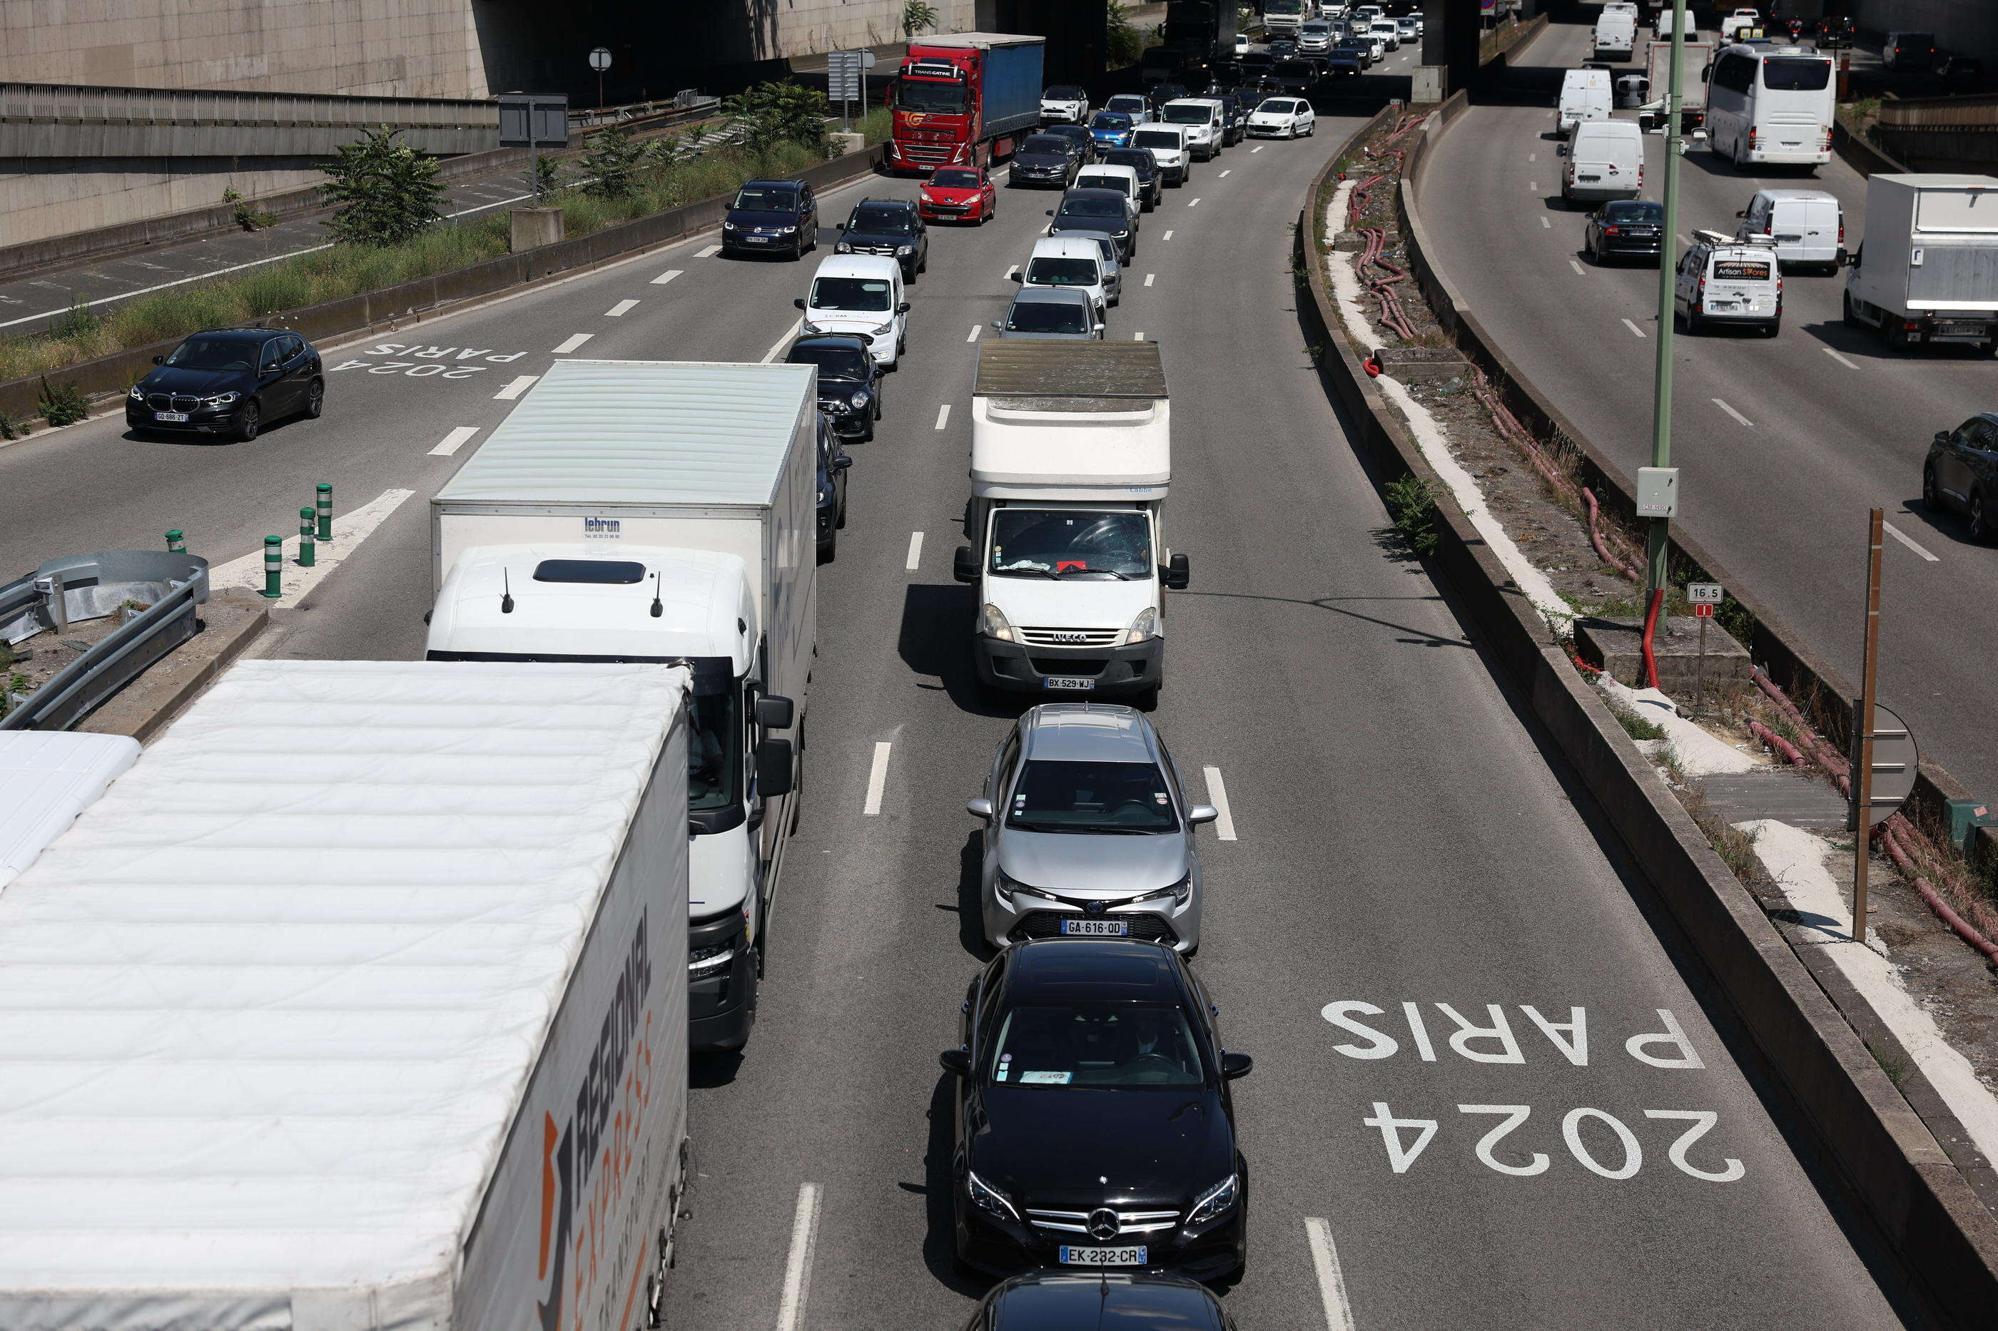
<path fill-rule="evenodd" d="M 593 136 L 575 160 L 539 158 L 531 172 L 537 202 L 561 208 L 567 236 L 587 236 L 825 158 L 825 98 L 813 90 L 763 84 L 731 98 L 729 112 L 743 122 L 747 144 L 711 146 L 689 156 L 691 130 L 647 142 L 635 142 L 627 130 L 607 130 Z M 885 140 L 887 108 L 867 112 L 855 128 L 869 144 Z M 605 168 L 615 170 L 599 174 Z M 342 160 L 328 170 L 326 192 L 330 202 L 342 204 L 330 224 L 336 236 L 332 246 L 120 302 L 102 314 L 76 306 L 44 332 L 0 342 L 0 382 L 52 374 L 198 328 L 246 324 L 280 310 L 430 278 L 507 252 L 503 210 L 442 224 L 436 164 L 402 148 L 392 132 L 370 134 L 342 150 Z M 20 424 L 6 422 L 6 428 Z"/>

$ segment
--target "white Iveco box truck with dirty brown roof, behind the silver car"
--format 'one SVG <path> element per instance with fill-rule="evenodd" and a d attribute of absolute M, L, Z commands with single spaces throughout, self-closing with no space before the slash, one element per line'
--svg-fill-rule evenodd
<path fill-rule="evenodd" d="M 985 342 L 971 390 L 973 656 L 987 689 L 1159 697 L 1173 404 L 1157 342 Z"/>

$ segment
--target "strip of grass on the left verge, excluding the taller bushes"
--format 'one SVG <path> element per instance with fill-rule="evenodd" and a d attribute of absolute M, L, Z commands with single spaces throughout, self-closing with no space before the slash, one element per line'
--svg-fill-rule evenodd
<path fill-rule="evenodd" d="M 869 112 L 863 126 L 873 122 L 875 112 Z M 885 126 L 887 108 L 881 108 L 883 136 Z M 869 138 L 869 142 L 879 140 Z M 761 154 L 715 148 L 699 158 L 639 172 L 635 188 L 623 198 L 559 190 L 547 206 L 561 208 L 569 236 L 587 236 L 605 226 L 729 194 L 745 180 L 787 176 L 819 160 L 823 160 L 819 154 L 799 144 L 779 144 Z M 52 374 L 64 366 L 166 342 L 200 328 L 250 324 L 282 310 L 470 268 L 507 252 L 507 228 L 509 222 L 501 212 L 456 226 L 434 226 L 398 246 L 336 244 L 216 282 L 140 296 L 114 306 L 108 314 L 72 308 L 40 334 L 0 342 L 0 382 Z M 18 422 L 0 424 L 0 438 L 12 438 L 10 432 L 24 430 Z"/>

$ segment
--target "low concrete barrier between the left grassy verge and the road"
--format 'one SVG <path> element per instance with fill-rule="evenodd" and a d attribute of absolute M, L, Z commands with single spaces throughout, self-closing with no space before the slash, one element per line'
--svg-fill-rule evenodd
<path fill-rule="evenodd" d="M 819 190 L 825 190 L 873 172 L 879 162 L 881 150 L 873 148 L 863 154 L 849 154 L 843 158 L 831 158 L 829 162 L 819 162 L 817 166 L 807 166 L 805 170 L 795 172 L 795 178 L 809 180 Z M 681 208 L 669 208 L 665 212 L 633 218 L 631 222 L 619 222 L 617 226 L 605 226 L 589 236 L 557 240 L 555 244 L 529 250 L 527 254 L 505 254 L 486 260 L 484 264 L 454 268 L 452 272 L 418 278 L 416 282 L 404 282 L 380 292 L 364 292 L 360 296 L 328 300 L 318 306 L 280 310 L 264 322 L 270 328 L 290 328 L 306 338 L 324 340 L 348 334 L 366 334 L 376 326 L 390 322 L 404 324 L 410 320 L 422 320 L 424 316 L 446 314 L 452 306 L 468 300 L 496 296 L 509 288 L 543 282 L 557 274 L 595 268 L 627 254 L 637 254 L 639 250 L 649 250 L 669 240 L 719 226 L 721 216 L 727 212 L 729 198 L 731 196 L 697 200 L 693 204 L 683 204 Z M 154 342 L 152 346 L 132 348 L 130 352 L 118 352 L 114 356 L 100 356 L 98 360 L 86 360 L 64 370 L 52 370 L 48 376 L 8 380 L 6 384 L 0 384 L 0 412 L 16 420 L 38 416 L 44 378 L 50 384 L 76 384 L 76 388 L 90 398 L 124 394 L 132 384 L 144 378 L 148 370 L 152 370 L 154 356 L 164 356 L 176 346 L 180 346 L 180 338 L 168 338 L 164 342 Z"/>

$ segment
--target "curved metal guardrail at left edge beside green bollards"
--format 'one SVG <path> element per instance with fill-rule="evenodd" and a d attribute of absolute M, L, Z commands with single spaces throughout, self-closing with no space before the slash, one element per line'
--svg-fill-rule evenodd
<path fill-rule="evenodd" d="M 0 588 L 0 642 L 122 614 L 150 602 L 48 683 L 0 715 L 0 729 L 70 729 L 148 666 L 200 632 L 196 608 L 208 600 L 208 560 L 178 552 L 110 550 L 50 560 Z"/>

